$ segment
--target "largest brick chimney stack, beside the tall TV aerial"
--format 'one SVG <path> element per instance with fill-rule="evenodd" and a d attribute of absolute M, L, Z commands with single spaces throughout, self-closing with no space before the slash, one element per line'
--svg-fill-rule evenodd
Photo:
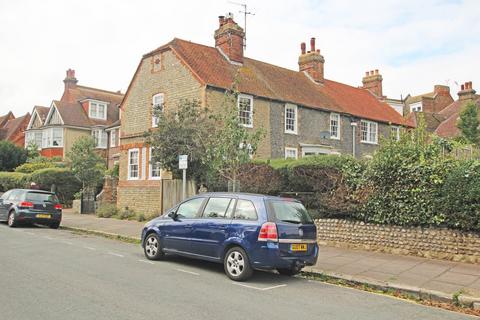
<path fill-rule="evenodd" d="M 233 20 L 233 14 L 218 17 L 219 26 L 215 30 L 215 47 L 220 49 L 230 61 L 243 63 L 245 32 Z"/>

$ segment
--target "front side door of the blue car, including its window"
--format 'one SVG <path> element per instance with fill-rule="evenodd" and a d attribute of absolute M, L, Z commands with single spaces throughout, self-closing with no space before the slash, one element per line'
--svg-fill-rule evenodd
<path fill-rule="evenodd" d="M 205 200 L 205 197 L 197 197 L 178 206 L 172 221 L 162 227 L 164 250 L 190 252 L 192 227 L 201 213 Z"/>

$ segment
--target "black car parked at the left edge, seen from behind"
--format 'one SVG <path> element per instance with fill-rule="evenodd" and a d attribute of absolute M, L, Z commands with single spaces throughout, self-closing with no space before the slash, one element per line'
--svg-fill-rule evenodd
<path fill-rule="evenodd" d="M 9 227 L 38 223 L 57 229 L 62 221 L 62 205 L 48 191 L 13 189 L 0 197 L 0 221 Z"/>

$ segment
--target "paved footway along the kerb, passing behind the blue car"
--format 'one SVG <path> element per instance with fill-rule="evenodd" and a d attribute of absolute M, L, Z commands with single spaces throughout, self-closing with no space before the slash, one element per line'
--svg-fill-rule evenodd
<path fill-rule="evenodd" d="M 145 223 L 97 218 L 66 210 L 62 226 L 140 239 Z M 480 265 L 320 246 L 317 265 L 304 271 L 395 289 L 424 298 L 480 301 Z"/>

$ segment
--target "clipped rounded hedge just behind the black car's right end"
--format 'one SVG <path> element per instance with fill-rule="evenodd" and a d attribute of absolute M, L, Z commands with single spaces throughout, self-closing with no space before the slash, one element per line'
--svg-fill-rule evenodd
<path fill-rule="evenodd" d="M 64 168 L 37 170 L 31 174 L 30 181 L 35 182 L 42 190 L 51 190 L 55 185 L 60 202 L 67 206 L 72 204 L 75 193 L 81 188 L 80 181 L 70 170 Z"/>

